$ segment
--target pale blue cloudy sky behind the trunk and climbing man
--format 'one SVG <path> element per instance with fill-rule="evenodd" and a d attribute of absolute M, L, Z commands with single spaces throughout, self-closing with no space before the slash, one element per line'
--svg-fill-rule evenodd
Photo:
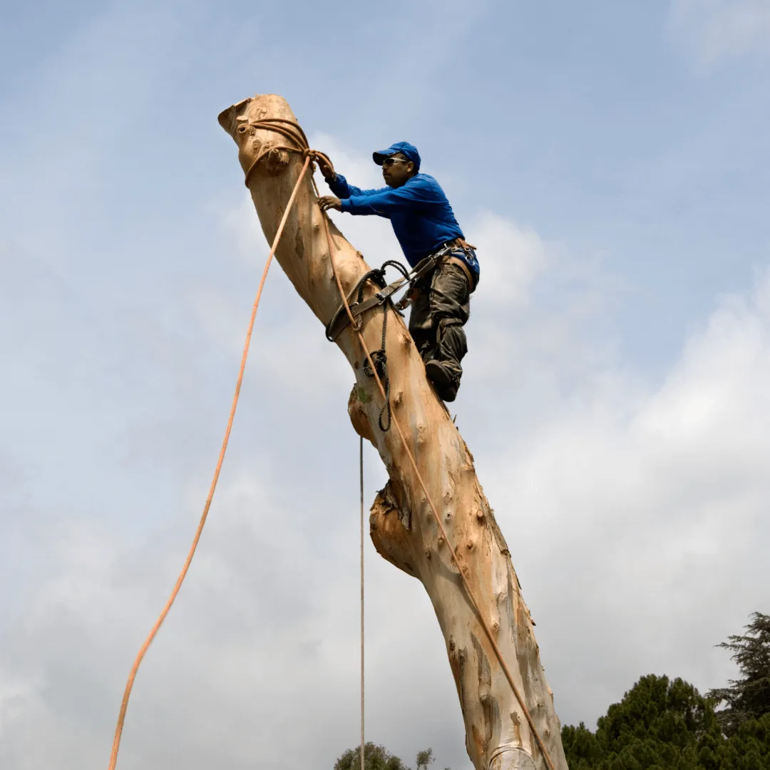
<path fill-rule="evenodd" d="M 768 0 L 4 3 L 0 767 L 109 762 L 267 252 L 216 122 L 255 93 L 359 186 L 416 144 L 478 246 L 452 413 L 562 723 L 641 675 L 735 676 L 715 645 L 770 612 L 768 75 Z M 370 264 L 399 255 L 387 222 L 333 218 Z M 357 744 L 352 383 L 274 266 L 121 770 L 323 770 Z M 367 447 L 367 500 L 385 478 Z M 467 770 L 427 594 L 365 559 L 367 738 Z"/>

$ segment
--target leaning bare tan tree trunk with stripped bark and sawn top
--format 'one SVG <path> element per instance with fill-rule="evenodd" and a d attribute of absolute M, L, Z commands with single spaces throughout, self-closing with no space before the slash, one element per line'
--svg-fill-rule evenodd
<path fill-rule="evenodd" d="M 302 166 L 301 154 L 280 149 L 286 138 L 250 125 L 259 119 L 294 119 L 280 96 L 257 95 L 219 115 L 239 148 L 244 171 L 266 150 L 249 176 L 249 190 L 268 241 L 272 241 Z M 301 183 L 296 204 L 276 259 L 297 293 L 318 320 L 327 323 L 340 306 L 329 248 L 310 174 Z M 336 246 L 333 259 L 344 290 L 350 292 L 368 269 L 360 253 L 330 223 Z M 363 318 L 370 350 L 380 348 L 383 309 Z M 409 331 L 395 313 L 387 325 L 387 367 L 393 419 L 398 420 L 417 460 L 431 500 L 443 517 L 482 614 L 496 636 L 537 731 L 557 770 L 567 770 L 553 694 L 540 662 L 530 613 L 511 564 L 504 537 L 494 520 L 474 470 L 474 458 L 425 377 L 425 367 Z M 382 457 L 390 480 L 374 500 L 370 531 L 377 551 L 422 582 L 447 644 L 466 730 L 466 747 L 476 770 L 547 770 L 524 712 L 467 600 L 430 507 L 396 430 L 383 433 L 377 419 L 382 397 L 363 370 L 364 354 L 348 327 L 337 340 L 356 377 L 348 410 L 353 427 Z"/>

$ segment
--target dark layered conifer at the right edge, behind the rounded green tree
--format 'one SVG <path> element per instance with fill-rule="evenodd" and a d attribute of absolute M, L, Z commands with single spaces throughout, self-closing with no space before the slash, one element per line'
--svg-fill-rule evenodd
<path fill-rule="evenodd" d="M 745 722 L 770 714 L 770 615 L 753 613 L 745 629 L 745 636 L 729 636 L 718 644 L 731 651 L 741 678 L 708 693 L 716 703 L 726 704 L 717 711 L 725 735 L 735 735 Z"/>

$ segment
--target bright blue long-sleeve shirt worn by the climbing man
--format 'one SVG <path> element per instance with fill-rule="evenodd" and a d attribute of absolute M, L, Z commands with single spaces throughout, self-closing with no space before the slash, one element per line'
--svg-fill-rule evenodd
<path fill-rule="evenodd" d="M 377 214 L 390 219 L 404 256 L 411 266 L 440 249 L 447 241 L 464 238 L 454 212 L 439 183 L 428 174 L 416 174 L 400 187 L 362 190 L 348 184 L 342 174 L 328 182 L 350 214 Z M 463 256 L 460 253 L 458 256 Z M 464 256 L 478 275 L 478 262 Z"/>

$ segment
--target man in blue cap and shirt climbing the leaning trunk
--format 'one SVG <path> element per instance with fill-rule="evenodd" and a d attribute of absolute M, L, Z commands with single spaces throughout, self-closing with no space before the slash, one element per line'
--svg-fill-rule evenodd
<path fill-rule="evenodd" d="M 436 266 L 414 283 L 409 330 L 439 397 L 454 401 L 463 374 L 460 361 L 467 353 L 463 326 L 470 316 L 470 294 L 479 280 L 474 247 L 465 242 L 439 183 L 420 173 L 420 153 L 415 146 L 396 142 L 374 152 L 373 159 L 382 166 L 387 187 L 354 187 L 320 160 L 324 179 L 340 196 L 323 196 L 321 209 L 390 219 L 412 267 L 427 257 L 437 257 Z"/>

